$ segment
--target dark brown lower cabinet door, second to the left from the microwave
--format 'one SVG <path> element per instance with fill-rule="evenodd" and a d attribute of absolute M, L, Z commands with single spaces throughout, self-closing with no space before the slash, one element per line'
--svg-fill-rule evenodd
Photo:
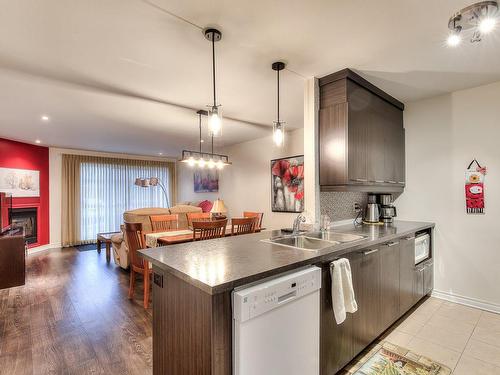
<path fill-rule="evenodd" d="M 380 332 L 399 318 L 400 241 L 380 247 Z"/>

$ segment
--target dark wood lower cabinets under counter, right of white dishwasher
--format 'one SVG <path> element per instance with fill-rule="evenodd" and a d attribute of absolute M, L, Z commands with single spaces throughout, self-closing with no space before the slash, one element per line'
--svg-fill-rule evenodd
<path fill-rule="evenodd" d="M 415 235 L 348 253 L 358 311 L 337 324 L 330 263 L 322 265 L 321 375 L 335 374 L 433 288 L 429 259 L 415 266 Z"/>

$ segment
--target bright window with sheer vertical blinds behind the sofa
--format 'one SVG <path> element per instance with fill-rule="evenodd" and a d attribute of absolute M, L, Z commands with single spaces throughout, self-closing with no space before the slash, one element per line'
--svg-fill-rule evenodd
<path fill-rule="evenodd" d="M 80 239 L 95 241 L 99 232 L 115 232 L 123 224 L 123 213 L 144 207 L 167 207 L 162 189 L 142 188 L 137 177 L 159 177 L 167 192 L 171 176 L 164 163 L 112 159 L 80 164 Z M 169 201 L 172 200 L 169 197 Z"/>

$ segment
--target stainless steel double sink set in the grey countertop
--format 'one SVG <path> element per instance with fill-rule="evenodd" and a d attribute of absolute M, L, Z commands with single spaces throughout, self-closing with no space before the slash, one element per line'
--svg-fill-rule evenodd
<path fill-rule="evenodd" d="M 301 250 L 318 251 L 342 243 L 361 241 L 366 236 L 341 232 L 308 232 L 296 236 L 283 236 L 263 240 L 276 245 L 293 247 Z"/>

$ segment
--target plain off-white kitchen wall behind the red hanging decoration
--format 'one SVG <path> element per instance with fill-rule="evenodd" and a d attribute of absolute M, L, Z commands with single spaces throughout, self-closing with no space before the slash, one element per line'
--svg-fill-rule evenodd
<path fill-rule="evenodd" d="M 409 103 L 402 219 L 436 223 L 435 289 L 500 311 L 500 82 Z M 488 168 L 486 213 L 465 213 L 464 172 Z M 483 303 L 483 304 L 481 304 Z"/>

